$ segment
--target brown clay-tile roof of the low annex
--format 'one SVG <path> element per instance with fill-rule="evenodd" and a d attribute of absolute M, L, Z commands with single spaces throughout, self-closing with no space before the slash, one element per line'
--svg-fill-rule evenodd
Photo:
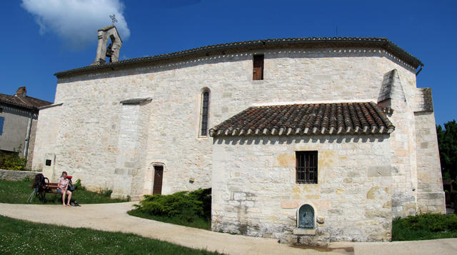
<path fill-rule="evenodd" d="M 395 126 L 373 102 L 253 106 L 209 130 L 210 136 L 390 134 Z"/>

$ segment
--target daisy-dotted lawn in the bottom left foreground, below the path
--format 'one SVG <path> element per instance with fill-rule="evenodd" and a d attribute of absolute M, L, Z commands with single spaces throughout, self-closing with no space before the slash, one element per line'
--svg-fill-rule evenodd
<path fill-rule="evenodd" d="M 0 254 L 218 254 L 119 232 L 72 229 L 0 216 Z"/>

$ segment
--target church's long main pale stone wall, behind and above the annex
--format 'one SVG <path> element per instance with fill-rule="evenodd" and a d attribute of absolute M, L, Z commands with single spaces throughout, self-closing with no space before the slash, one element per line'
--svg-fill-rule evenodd
<path fill-rule="evenodd" d="M 265 55 L 262 81 L 252 81 L 253 54 Z M 210 91 L 211 127 L 253 104 L 376 102 L 383 74 L 392 69 L 398 70 L 406 99 L 411 98 L 413 69 L 379 49 L 226 52 L 59 77 L 55 102 L 63 103 L 61 116 L 40 113 L 51 123 L 61 119 L 59 136 L 47 141 L 52 145 L 39 147 L 56 154 L 56 172 L 69 171 L 92 189 L 113 189 L 120 101 L 151 97 L 141 170 L 144 192 L 150 190 L 146 183 L 154 162 L 164 164 L 163 194 L 206 188 L 211 186 L 213 151 L 212 139 L 198 135 L 202 89 Z M 44 161 L 42 155 L 37 162 Z"/>

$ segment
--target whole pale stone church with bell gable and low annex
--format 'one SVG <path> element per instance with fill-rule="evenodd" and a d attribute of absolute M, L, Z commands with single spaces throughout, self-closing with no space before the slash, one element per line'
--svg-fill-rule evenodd
<path fill-rule="evenodd" d="M 241 41 L 61 71 L 34 169 L 114 197 L 212 188 L 212 229 L 292 243 L 387 241 L 444 213 L 423 64 L 383 38 Z"/>

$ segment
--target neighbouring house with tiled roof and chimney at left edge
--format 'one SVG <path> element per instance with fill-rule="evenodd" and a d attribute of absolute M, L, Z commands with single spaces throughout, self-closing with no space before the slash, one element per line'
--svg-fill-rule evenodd
<path fill-rule="evenodd" d="M 19 156 L 27 160 L 26 167 L 30 168 L 39 107 L 52 103 L 26 93 L 22 86 L 13 96 L 0 94 L 0 150 L 20 151 Z"/>

